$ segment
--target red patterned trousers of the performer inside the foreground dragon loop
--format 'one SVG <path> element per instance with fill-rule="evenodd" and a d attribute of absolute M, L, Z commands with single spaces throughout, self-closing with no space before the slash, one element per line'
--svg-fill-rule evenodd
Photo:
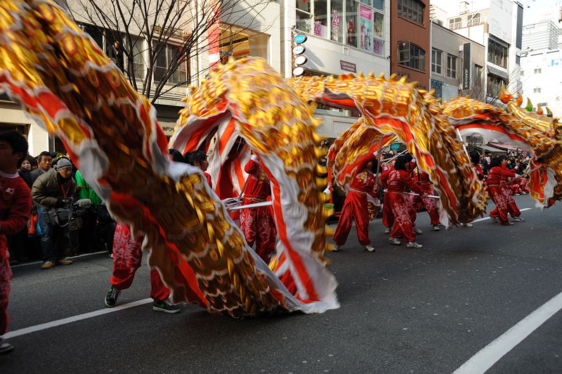
<path fill-rule="evenodd" d="M 256 202 L 254 199 L 244 198 L 242 205 Z M 268 264 L 271 254 L 275 252 L 275 237 L 277 236 L 271 207 L 242 209 L 240 212 L 240 230 L 244 233 L 246 243 L 250 247 L 254 247 L 254 243 L 256 243 L 256 253 Z"/>

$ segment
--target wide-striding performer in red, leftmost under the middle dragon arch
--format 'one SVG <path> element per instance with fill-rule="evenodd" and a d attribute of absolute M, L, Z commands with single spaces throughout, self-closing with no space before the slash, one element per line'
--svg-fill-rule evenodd
<path fill-rule="evenodd" d="M 359 243 L 365 246 L 369 252 L 374 252 L 369 238 L 369 213 L 367 212 L 367 194 L 377 198 L 378 186 L 371 172 L 372 167 L 373 162 L 367 162 L 351 182 L 344 207 L 341 209 L 338 226 L 334 232 L 336 250 L 346 243 L 351 225 L 355 221 Z"/>

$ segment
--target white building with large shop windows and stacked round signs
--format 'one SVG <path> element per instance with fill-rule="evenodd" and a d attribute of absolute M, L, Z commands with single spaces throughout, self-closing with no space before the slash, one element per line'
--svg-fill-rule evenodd
<path fill-rule="evenodd" d="M 391 1 L 291 0 L 282 4 L 280 71 L 285 77 L 390 72 Z M 301 35 L 306 41 L 298 43 L 304 39 Z M 295 53 L 296 44 L 302 52 Z M 303 58 L 296 60 L 299 56 Z M 318 132 L 327 138 L 339 136 L 359 116 L 355 110 L 324 105 L 318 105 L 316 115 L 322 119 Z"/>

